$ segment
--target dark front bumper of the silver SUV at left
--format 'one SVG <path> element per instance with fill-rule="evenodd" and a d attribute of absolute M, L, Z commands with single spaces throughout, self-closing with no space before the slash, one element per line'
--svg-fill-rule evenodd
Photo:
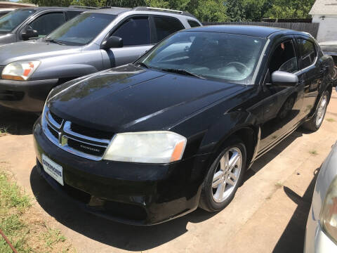
<path fill-rule="evenodd" d="M 0 105 L 15 110 L 41 112 L 58 79 L 15 81 L 0 79 Z"/>

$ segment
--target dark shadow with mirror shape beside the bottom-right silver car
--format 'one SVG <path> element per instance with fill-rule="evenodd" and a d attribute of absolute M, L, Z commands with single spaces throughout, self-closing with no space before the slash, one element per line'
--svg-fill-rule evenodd
<path fill-rule="evenodd" d="M 297 207 L 272 252 L 303 252 L 305 227 L 310 212 L 312 195 L 315 190 L 319 169 L 320 168 L 315 169 L 314 178 L 310 182 L 307 190 L 305 190 L 303 197 L 300 197 L 293 190 L 284 186 L 284 193 L 297 204 Z"/>

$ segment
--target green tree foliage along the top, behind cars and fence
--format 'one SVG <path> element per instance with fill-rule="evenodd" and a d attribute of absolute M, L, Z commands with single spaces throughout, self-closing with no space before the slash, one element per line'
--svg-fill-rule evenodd
<path fill-rule="evenodd" d="M 188 11 L 201 21 L 308 18 L 315 0 L 21 0 L 39 6 L 152 6 Z"/>

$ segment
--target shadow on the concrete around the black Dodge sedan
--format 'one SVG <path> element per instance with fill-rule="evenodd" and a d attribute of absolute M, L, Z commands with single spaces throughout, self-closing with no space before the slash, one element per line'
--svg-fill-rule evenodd
<path fill-rule="evenodd" d="M 294 132 L 273 150 L 266 153 L 263 156 L 264 158 L 258 159 L 256 164 L 247 171 L 244 181 L 249 180 L 256 171 L 263 168 L 265 164 L 274 159 L 284 148 L 300 136 L 302 136 L 300 132 Z M 163 245 L 187 233 L 187 223 L 199 223 L 218 214 L 197 209 L 183 217 L 161 223 L 157 226 L 130 226 L 84 212 L 74 202 L 65 199 L 60 193 L 55 192 L 39 176 L 36 167 L 32 169 L 30 174 L 30 184 L 39 205 L 58 222 L 67 226 L 67 228 L 106 245 L 131 251 L 143 251 Z"/>

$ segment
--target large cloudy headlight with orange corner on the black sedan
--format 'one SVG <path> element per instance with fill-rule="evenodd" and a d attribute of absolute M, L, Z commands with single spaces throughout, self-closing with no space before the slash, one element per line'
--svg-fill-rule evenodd
<path fill-rule="evenodd" d="M 104 160 L 168 163 L 183 157 L 186 138 L 171 131 L 117 134 L 112 138 Z"/>

